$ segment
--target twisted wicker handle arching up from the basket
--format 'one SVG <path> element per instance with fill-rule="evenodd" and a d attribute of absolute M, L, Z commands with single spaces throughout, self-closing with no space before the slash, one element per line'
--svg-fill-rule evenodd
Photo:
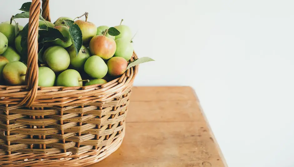
<path fill-rule="evenodd" d="M 49 0 L 43 0 L 42 16 L 50 21 L 48 3 Z M 32 0 L 28 21 L 28 69 L 26 72 L 26 83 L 30 91 L 28 91 L 27 95 L 19 103 L 19 105 L 26 103 L 26 107 L 30 107 L 33 104 L 38 91 L 38 27 L 40 7 L 40 0 Z"/>

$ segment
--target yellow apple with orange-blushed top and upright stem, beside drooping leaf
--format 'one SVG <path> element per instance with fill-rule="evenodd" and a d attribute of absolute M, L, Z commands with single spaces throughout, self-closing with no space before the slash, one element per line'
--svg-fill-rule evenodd
<path fill-rule="evenodd" d="M 97 27 L 94 23 L 77 20 L 74 24 L 77 24 L 82 31 L 84 45 L 89 44 L 90 40 L 97 34 Z"/>

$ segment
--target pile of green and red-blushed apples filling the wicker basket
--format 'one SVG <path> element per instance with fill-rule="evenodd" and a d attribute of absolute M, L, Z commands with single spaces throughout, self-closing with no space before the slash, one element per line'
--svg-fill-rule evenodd
<path fill-rule="evenodd" d="M 47 25 L 58 29 L 66 40 L 56 39 L 48 42 L 39 58 L 38 86 L 88 86 L 103 84 L 119 77 L 127 69 L 133 55 L 132 32 L 126 25 L 114 26 L 119 35 L 111 36 L 108 26 L 97 27 L 94 23 L 78 19 L 74 21 L 82 32 L 83 45 L 76 53 L 70 39 L 69 27 L 60 17 Z M 44 21 L 39 21 L 41 27 Z M 27 65 L 23 55 L 20 34 L 15 34 L 15 24 L 0 23 L 0 84 L 24 85 Z M 18 25 L 19 31 L 23 29 Z M 40 53 L 39 53 L 40 54 Z"/>

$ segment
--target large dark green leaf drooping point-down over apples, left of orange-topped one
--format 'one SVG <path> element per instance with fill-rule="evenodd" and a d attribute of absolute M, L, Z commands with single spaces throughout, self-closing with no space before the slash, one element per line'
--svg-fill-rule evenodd
<path fill-rule="evenodd" d="M 72 20 L 64 20 L 64 23 L 68 27 L 74 51 L 76 52 L 76 56 L 78 56 L 83 44 L 82 31 L 77 24 L 73 24 L 74 22 Z"/>

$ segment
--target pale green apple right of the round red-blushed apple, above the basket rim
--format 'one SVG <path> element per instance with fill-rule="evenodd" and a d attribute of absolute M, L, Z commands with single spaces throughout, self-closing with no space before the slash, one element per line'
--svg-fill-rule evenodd
<path fill-rule="evenodd" d="M 125 60 L 129 61 L 134 52 L 133 44 L 125 38 L 116 39 L 115 43 L 116 50 L 114 56 L 122 57 Z"/>

